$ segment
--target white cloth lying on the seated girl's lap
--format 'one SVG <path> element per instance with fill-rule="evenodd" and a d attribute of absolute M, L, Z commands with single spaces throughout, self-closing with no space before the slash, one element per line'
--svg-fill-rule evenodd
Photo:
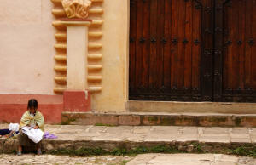
<path fill-rule="evenodd" d="M 22 132 L 27 135 L 34 143 L 38 143 L 43 139 L 44 132 L 41 129 L 34 129 L 31 127 L 23 127 Z"/>

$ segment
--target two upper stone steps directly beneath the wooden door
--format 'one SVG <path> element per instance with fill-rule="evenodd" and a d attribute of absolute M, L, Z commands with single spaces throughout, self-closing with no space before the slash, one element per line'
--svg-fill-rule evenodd
<path fill-rule="evenodd" d="M 62 112 L 62 124 L 127 126 L 256 127 L 255 103 L 137 101 L 127 112 Z"/>

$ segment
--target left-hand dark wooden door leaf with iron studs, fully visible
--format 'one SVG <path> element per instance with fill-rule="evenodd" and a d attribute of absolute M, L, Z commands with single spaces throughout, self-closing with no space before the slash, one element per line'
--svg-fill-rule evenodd
<path fill-rule="evenodd" d="M 131 100 L 212 100 L 212 0 L 131 0 Z"/>

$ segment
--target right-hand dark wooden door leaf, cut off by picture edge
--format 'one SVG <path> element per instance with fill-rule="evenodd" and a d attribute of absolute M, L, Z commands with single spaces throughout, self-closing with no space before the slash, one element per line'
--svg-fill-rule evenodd
<path fill-rule="evenodd" d="M 215 48 L 222 54 L 215 55 L 215 101 L 256 102 L 256 2 L 228 0 L 216 6 L 221 32 L 215 33 Z"/>

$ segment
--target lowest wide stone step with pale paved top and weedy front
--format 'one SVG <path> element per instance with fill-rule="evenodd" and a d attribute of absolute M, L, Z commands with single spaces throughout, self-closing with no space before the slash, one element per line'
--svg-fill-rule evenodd
<path fill-rule="evenodd" d="M 45 130 L 58 138 L 44 139 L 44 153 L 78 156 L 150 152 L 239 154 L 239 150 L 250 154 L 249 151 L 255 151 L 256 142 L 256 128 L 46 125 Z M 3 153 L 16 151 L 17 145 L 17 138 L 0 139 Z"/>

